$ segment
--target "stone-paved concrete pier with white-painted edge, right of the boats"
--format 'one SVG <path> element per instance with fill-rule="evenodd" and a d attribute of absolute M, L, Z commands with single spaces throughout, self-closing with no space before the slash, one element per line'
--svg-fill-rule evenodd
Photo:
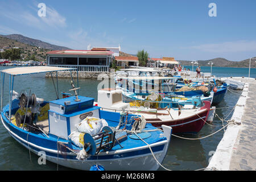
<path fill-rule="evenodd" d="M 230 120 L 241 125 L 229 125 L 207 168 L 217 170 L 256 170 L 256 80 L 234 77 L 245 82 L 241 97 Z"/>

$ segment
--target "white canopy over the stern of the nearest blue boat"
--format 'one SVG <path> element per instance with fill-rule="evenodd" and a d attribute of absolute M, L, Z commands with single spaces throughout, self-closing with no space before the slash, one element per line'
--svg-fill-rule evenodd
<path fill-rule="evenodd" d="M 61 68 L 61 67 L 48 67 L 48 66 L 38 66 L 38 67 L 17 67 L 4 69 L 1 72 L 17 76 L 17 75 L 28 75 L 35 73 L 46 73 L 46 72 L 56 72 L 56 71 L 72 71 L 76 70 L 76 68 Z"/>

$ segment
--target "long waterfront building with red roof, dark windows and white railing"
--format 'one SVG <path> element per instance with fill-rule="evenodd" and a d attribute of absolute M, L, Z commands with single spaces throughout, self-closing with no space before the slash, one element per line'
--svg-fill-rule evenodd
<path fill-rule="evenodd" d="M 47 65 L 77 68 L 80 72 L 109 72 L 114 57 L 114 52 L 105 48 L 49 51 L 46 54 Z"/>

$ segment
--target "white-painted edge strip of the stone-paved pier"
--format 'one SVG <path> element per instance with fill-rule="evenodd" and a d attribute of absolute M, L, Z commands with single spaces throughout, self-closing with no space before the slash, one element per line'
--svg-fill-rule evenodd
<path fill-rule="evenodd" d="M 245 112 L 246 100 L 248 97 L 248 88 L 249 83 L 245 82 L 245 85 L 242 90 L 242 94 L 237 101 L 236 107 L 234 108 L 234 112 L 232 118 L 230 120 L 234 120 L 235 122 L 240 122 L 241 125 L 229 125 L 224 133 L 223 138 L 218 144 L 214 155 L 210 159 L 209 165 L 207 168 L 216 168 L 220 171 L 228 171 L 230 170 L 230 162 L 232 159 L 232 154 L 234 150 L 234 144 L 237 141 L 238 133 L 242 128 L 242 116 Z"/>

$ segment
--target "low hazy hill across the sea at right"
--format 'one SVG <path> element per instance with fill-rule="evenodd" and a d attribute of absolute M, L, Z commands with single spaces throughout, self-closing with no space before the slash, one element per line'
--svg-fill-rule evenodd
<path fill-rule="evenodd" d="M 192 65 L 191 61 L 187 61 L 187 60 L 177 60 L 177 61 L 179 61 L 181 65 L 189 65 L 189 66 Z M 242 60 L 242 61 L 229 61 L 229 60 L 226 60 L 225 58 L 218 57 L 210 60 L 198 60 L 197 62 L 202 67 L 210 67 L 210 64 L 208 64 L 209 61 L 213 62 L 213 67 L 233 67 L 233 68 L 249 67 L 249 59 Z M 251 68 L 256 68 L 255 59 L 251 60 Z"/>

